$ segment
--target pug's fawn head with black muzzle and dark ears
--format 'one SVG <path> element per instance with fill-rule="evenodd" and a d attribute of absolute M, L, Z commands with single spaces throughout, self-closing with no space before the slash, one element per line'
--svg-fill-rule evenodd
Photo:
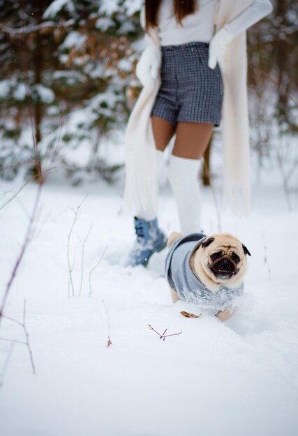
<path fill-rule="evenodd" d="M 251 256 L 248 249 L 237 238 L 220 233 L 210 235 L 200 244 L 198 259 L 204 273 L 215 283 L 239 283 L 246 272 L 246 255 Z"/>

